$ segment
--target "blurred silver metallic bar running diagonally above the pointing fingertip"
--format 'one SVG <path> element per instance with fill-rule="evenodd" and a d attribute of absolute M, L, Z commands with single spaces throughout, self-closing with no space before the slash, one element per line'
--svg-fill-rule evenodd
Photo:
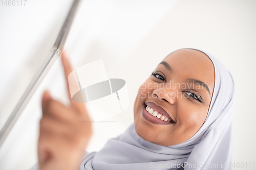
<path fill-rule="evenodd" d="M 58 56 L 60 56 L 60 54 L 62 53 L 79 2 L 80 2 L 80 0 L 74 1 L 73 5 L 69 11 L 68 16 L 66 17 L 66 20 L 62 25 L 59 35 L 52 47 L 51 52 L 47 56 L 44 63 L 42 63 L 41 67 L 38 69 L 38 71 L 36 72 L 33 79 L 30 81 L 30 83 L 29 83 L 28 87 L 26 88 L 25 92 L 23 93 L 22 97 L 19 99 L 17 105 L 15 106 L 11 115 L 8 117 L 5 125 L 1 129 L 1 131 L 0 131 L 0 147 L 4 143 L 8 134 L 11 132 L 11 130 L 12 130 L 13 126 L 15 125 L 15 123 L 17 122 L 19 116 L 22 114 L 25 107 L 31 100 L 37 87 L 40 85 L 42 80 L 45 78 L 47 72 L 50 70 L 50 68 L 52 67 L 52 65 L 58 58 Z"/>

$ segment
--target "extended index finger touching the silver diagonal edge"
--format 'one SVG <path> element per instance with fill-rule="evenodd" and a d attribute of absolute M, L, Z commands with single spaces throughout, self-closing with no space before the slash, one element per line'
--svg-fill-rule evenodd
<path fill-rule="evenodd" d="M 64 72 L 65 72 L 65 78 L 66 78 L 66 83 L 67 83 L 67 88 L 68 88 L 67 90 L 68 90 L 68 93 L 69 93 L 69 100 L 70 100 L 70 103 L 71 103 L 71 107 L 73 107 L 75 110 L 77 110 L 80 113 L 84 113 L 86 111 L 86 108 L 85 108 L 84 104 L 83 103 L 74 102 L 72 100 L 72 97 L 71 97 L 71 94 L 70 94 L 69 74 L 73 70 L 72 70 L 70 62 L 68 60 L 67 53 L 65 51 L 63 51 L 63 53 L 61 54 L 61 60 L 62 60 L 62 65 L 63 65 L 63 68 L 64 68 Z"/>

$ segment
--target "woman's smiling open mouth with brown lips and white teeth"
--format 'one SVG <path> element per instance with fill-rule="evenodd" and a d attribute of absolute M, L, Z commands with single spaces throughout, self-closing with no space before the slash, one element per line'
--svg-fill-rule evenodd
<path fill-rule="evenodd" d="M 174 120 L 160 106 L 146 102 L 142 110 L 143 117 L 154 124 L 174 124 Z"/>

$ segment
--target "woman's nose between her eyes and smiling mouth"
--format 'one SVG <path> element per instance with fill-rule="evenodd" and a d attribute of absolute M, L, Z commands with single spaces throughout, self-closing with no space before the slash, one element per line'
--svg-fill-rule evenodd
<path fill-rule="evenodd" d="M 176 102 L 176 93 L 174 90 L 159 88 L 155 89 L 152 95 L 154 99 L 158 99 L 161 102 L 166 101 L 170 104 L 175 104 Z"/>

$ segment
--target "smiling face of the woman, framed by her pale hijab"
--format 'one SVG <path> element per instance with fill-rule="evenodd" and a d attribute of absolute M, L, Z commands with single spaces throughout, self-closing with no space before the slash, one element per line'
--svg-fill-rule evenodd
<path fill-rule="evenodd" d="M 204 53 L 182 49 L 168 55 L 139 87 L 136 133 L 165 146 L 188 140 L 205 121 L 214 83 L 214 65 Z"/>

